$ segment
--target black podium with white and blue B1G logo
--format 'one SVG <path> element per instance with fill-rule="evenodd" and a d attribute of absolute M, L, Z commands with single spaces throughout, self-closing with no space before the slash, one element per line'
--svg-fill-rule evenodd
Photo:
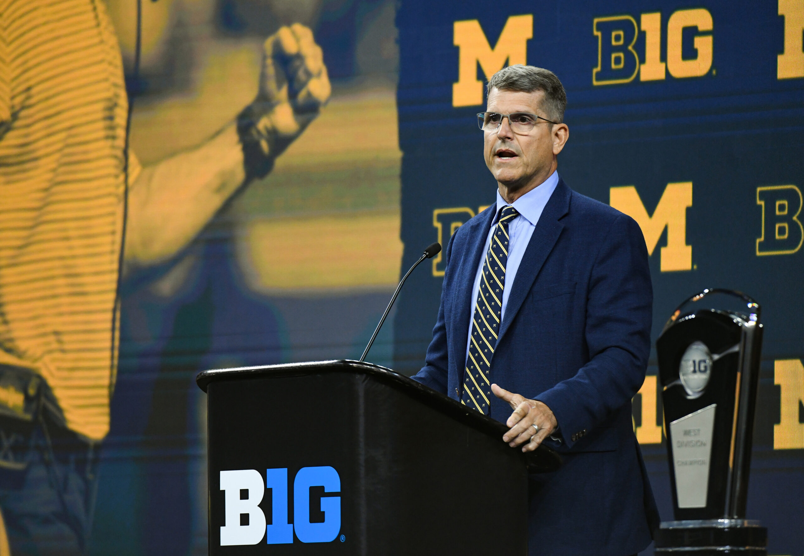
<path fill-rule="evenodd" d="M 507 428 L 351 360 L 200 373 L 210 554 L 527 554 L 524 455 Z M 270 545 L 270 546 L 269 546 Z"/>

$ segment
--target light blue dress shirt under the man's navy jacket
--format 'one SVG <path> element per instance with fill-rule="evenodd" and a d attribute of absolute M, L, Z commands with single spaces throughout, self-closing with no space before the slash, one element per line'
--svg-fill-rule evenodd
<path fill-rule="evenodd" d="M 506 263 L 505 270 L 505 283 L 503 284 L 503 312 L 500 315 L 500 323 L 503 322 L 505 315 L 505 307 L 508 303 L 508 296 L 511 294 L 511 286 L 514 284 L 516 278 L 516 271 L 519 270 L 519 263 L 522 262 L 522 257 L 527 249 L 527 244 L 531 241 L 533 230 L 536 223 L 539 222 L 539 216 L 542 216 L 544 206 L 548 204 L 552 192 L 556 191 L 558 185 L 558 171 L 554 171 L 548 179 L 545 179 L 539 186 L 531 189 L 519 199 L 514 201 L 514 208 L 519 212 L 514 220 L 508 224 L 508 262 Z M 478 264 L 478 271 L 474 276 L 474 286 L 472 287 L 472 311 L 469 317 L 469 336 L 466 337 L 466 359 L 469 359 L 469 346 L 472 338 L 472 328 L 474 327 L 474 306 L 478 302 L 478 290 L 480 290 L 480 278 L 483 274 L 483 262 L 486 260 L 486 251 L 489 250 L 491 243 L 491 236 L 494 234 L 494 228 L 497 226 L 497 218 L 500 209 L 508 203 L 497 191 L 497 216 L 494 216 L 494 221 L 491 223 L 488 236 L 486 237 L 486 246 L 483 248 L 482 257 Z"/>

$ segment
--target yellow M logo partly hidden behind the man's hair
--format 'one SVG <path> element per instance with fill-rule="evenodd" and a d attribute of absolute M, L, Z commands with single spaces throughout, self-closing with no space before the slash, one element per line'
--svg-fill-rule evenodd
<path fill-rule="evenodd" d="M 477 19 L 456 21 L 453 44 L 458 47 L 457 83 L 453 83 L 453 106 L 483 104 L 483 82 L 478 80 L 478 64 L 486 79 L 508 65 L 527 64 L 527 39 L 533 38 L 533 15 L 511 15 L 494 48 Z"/>

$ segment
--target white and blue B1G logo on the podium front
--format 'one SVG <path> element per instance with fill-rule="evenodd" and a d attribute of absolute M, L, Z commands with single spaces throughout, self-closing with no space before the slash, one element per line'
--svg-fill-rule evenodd
<path fill-rule="evenodd" d="M 293 480 L 293 524 L 288 523 L 287 467 L 268 469 L 265 481 L 256 469 L 220 472 L 224 491 L 224 523 L 220 546 L 256 545 L 265 537 L 269 545 L 293 542 L 293 531 L 301 542 L 330 542 L 341 530 L 341 497 L 321 499 L 323 523 L 310 523 L 310 488 L 340 492 L 341 478 L 333 467 L 302 467 Z M 273 523 L 266 525 L 260 502 L 270 488 Z"/>

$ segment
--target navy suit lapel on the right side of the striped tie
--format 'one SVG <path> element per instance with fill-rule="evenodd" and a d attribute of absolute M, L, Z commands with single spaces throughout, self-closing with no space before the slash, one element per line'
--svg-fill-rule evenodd
<path fill-rule="evenodd" d="M 498 345 L 522 307 L 522 303 L 525 301 L 527 293 L 531 290 L 539 270 L 542 269 L 548 255 L 556 245 L 556 241 L 561 235 L 561 230 L 564 229 L 564 224 L 561 224 L 558 220 L 561 216 L 567 214 L 571 194 L 570 188 L 567 187 L 563 179 L 560 179 L 556 190 L 550 196 L 548 204 L 545 205 L 544 211 L 539 216 L 539 222 L 533 230 L 531 241 L 527 244 L 522 262 L 519 263 L 519 270 L 516 271 L 514 285 L 511 287 L 511 294 L 508 296 L 503 323 L 500 325 Z"/>

